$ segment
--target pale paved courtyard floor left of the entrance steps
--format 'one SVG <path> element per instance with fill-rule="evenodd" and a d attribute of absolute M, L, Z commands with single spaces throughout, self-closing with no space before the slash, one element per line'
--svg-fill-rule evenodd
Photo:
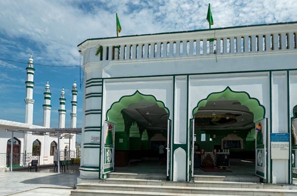
<path fill-rule="evenodd" d="M 77 184 L 77 173 L 0 172 L 0 196 L 67 196 Z"/>

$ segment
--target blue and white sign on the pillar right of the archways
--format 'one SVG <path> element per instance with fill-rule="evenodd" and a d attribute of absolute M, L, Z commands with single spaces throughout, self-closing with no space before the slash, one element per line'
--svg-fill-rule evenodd
<path fill-rule="evenodd" d="M 271 158 L 289 159 L 290 135 L 289 133 L 272 133 L 271 140 Z"/>

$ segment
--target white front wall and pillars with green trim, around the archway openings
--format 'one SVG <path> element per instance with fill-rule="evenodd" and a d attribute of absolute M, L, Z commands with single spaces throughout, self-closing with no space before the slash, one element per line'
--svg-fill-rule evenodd
<path fill-rule="evenodd" d="M 297 28 L 294 25 L 286 24 L 220 29 L 216 32 L 217 54 L 211 52 L 208 54 L 205 48 L 205 43 L 207 39 L 212 38 L 214 30 L 119 37 L 82 43 L 79 48 L 83 55 L 85 71 L 83 126 L 99 127 L 98 132 L 83 131 L 83 143 L 89 143 L 92 136 L 99 136 L 100 131 L 106 129 L 106 125 L 100 120 L 106 119 L 106 111 L 119 98 L 132 95 L 136 90 L 145 95 L 153 95 L 157 100 L 162 100 L 165 103 L 170 114 L 174 114 L 172 119 L 174 129 L 172 179 L 176 181 L 186 179 L 187 181 L 190 174 L 189 121 L 193 117 L 193 109 L 199 100 L 207 98 L 211 93 L 221 92 L 229 86 L 233 91 L 246 92 L 251 98 L 258 99 L 260 104 L 265 107 L 265 118 L 268 119 L 268 183 L 291 183 L 289 167 L 291 160 L 271 160 L 270 158 L 270 133 L 288 133 L 291 129 L 290 117 L 293 117 L 292 109 L 297 104 L 297 93 L 295 93 L 297 49 L 294 48 L 293 43 L 293 34 L 296 32 Z M 270 49 L 270 35 L 272 34 L 275 37 L 272 43 L 273 49 Z M 280 49 L 278 49 L 277 40 L 279 34 L 282 40 Z M 265 50 L 262 49 L 263 40 L 260 39 L 263 36 L 267 38 L 264 43 Z M 286 36 L 288 36 L 288 47 L 284 42 Z M 241 46 L 240 42 L 242 37 L 246 39 L 244 46 Z M 247 41 L 249 37 L 251 38 L 250 51 Z M 255 49 L 256 37 L 259 49 Z M 236 46 L 238 51 L 234 51 L 232 44 L 230 52 L 224 48 L 227 46 L 229 38 L 238 39 L 239 42 Z M 219 39 L 224 42 L 223 50 L 220 50 Z M 186 41 L 189 41 L 190 46 L 193 46 L 194 41 L 200 40 L 203 40 L 204 48 L 197 45 L 196 54 L 190 49 L 189 55 L 186 55 L 186 45 L 184 45 L 187 43 Z M 176 43 L 178 49 L 181 41 L 184 45 L 183 54 L 175 54 L 173 43 Z M 157 49 L 158 56 L 148 57 L 148 43 L 159 42 L 170 43 L 168 55 L 158 55 L 159 50 Z M 230 40 L 230 43 L 234 43 L 234 40 Z M 145 46 L 144 56 L 135 57 L 132 54 L 132 59 L 125 58 L 123 46 L 135 44 L 139 44 L 139 48 Z M 103 60 L 95 55 L 99 45 L 103 47 Z M 119 53 L 119 59 L 112 59 L 113 46 L 120 46 L 122 50 Z M 244 51 L 241 50 L 242 48 Z M 165 48 L 163 49 L 165 50 Z M 202 54 L 200 54 L 200 50 Z M 129 49 L 128 52 L 130 52 Z M 151 48 L 150 53 L 153 52 Z M 90 81 L 98 81 L 100 84 L 99 81 L 102 79 L 104 81 L 103 92 L 101 86 L 90 83 Z M 168 83 L 163 86 L 160 82 L 162 80 L 167 80 Z M 175 82 L 173 83 L 173 81 Z M 86 99 L 88 94 L 94 93 L 102 93 L 103 97 Z M 86 115 L 87 111 L 92 109 L 101 110 L 102 114 Z M 172 118 L 172 115 L 169 118 Z M 100 127 L 101 124 L 102 127 Z M 89 166 L 93 170 L 98 166 L 101 168 L 102 165 L 99 165 L 97 154 L 99 154 L 99 148 L 83 148 L 82 166 Z M 186 157 L 186 167 L 180 161 L 184 157 Z M 88 172 L 86 169 L 83 170 L 83 167 L 81 169 L 81 177 L 98 178 L 97 172 Z"/>

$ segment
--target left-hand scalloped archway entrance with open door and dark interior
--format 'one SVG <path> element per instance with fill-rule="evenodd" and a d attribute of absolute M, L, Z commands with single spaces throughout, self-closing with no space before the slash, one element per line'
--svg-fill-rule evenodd
<path fill-rule="evenodd" d="M 102 136 L 103 173 L 157 173 L 169 176 L 169 109 L 153 95 L 136 91 L 106 112 Z"/>

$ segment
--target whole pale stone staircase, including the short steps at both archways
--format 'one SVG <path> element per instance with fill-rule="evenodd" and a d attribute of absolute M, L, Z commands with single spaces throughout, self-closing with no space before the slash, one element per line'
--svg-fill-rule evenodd
<path fill-rule="evenodd" d="M 194 182 L 165 181 L 164 175 L 111 173 L 82 179 L 71 196 L 297 196 L 297 185 L 259 183 L 253 176 L 195 176 Z"/>

